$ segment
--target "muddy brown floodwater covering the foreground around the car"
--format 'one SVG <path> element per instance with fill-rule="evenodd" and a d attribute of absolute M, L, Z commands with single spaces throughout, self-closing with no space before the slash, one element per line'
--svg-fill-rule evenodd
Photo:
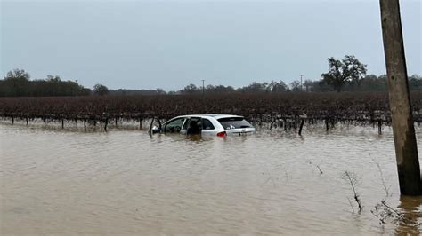
<path fill-rule="evenodd" d="M 3 123 L 0 234 L 419 233 L 422 199 L 400 198 L 390 128 L 303 133 L 150 138 Z M 380 224 L 383 200 L 410 220 Z"/>

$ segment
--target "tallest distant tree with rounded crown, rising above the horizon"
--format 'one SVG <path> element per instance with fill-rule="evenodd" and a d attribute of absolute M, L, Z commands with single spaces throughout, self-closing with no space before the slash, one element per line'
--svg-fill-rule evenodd
<path fill-rule="evenodd" d="M 331 85 L 337 92 L 340 92 L 345 83 L 353 83 L 359 88 L 361 79 L 367 72 L 367 66 L 354 56 L 345 56 L 339 60 L 329 58 L 329 72 L 322 74 L 322 81 Z"/>

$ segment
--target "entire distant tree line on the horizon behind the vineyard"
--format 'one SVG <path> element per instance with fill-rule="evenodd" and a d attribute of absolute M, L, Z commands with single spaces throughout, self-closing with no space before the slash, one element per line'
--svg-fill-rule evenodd
<path fill-rule="evenodd" d="M 48 97 L 86 95 L 161 95 L 161 94 L 227 94 L 227 93 L 282 93 L 282 92 L 329 92 L 329 91 L 386 91 L 386 75 L 366 75 L 367 66 L 354 56 L 344 59 L 329 58 L 329 71 L 321 74 L 320 80 L 295 80 L 292 83 L 271 81 L 254 82 L 235 89 L 224 85 L 207 85 L 204 88 L 193 83 L 182 90 L 109 90 L 107 86 L 95 84 L 93 90 L 73 81 L 62 81 L 58 75 L 47 75 L 44 80 L 30 80 L 23 69 L 9 71 L 0 80 L 0 97 Z M 422 77 L 409 77 L 410 90 L 422 90 Z"/>

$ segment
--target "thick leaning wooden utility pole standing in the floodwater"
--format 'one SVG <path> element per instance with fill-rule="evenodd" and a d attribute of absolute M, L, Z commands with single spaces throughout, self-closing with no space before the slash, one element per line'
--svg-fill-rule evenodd
<path fill-rule="evenodd" d="M 399 0 L 379 0 L 395 156 L 403 195 L 422 195 Z"/>

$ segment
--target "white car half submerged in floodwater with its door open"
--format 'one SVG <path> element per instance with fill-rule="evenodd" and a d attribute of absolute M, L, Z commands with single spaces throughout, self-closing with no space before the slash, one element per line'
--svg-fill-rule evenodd
<path fill-rule="evenodd" d="M 245 135 L 255 132 L 255 128 L 243 116 L 232 114 L 188 114 L 174 117 L 163 123 L 161 128 L 154 127 L 153 133 L 201 134 L 224 137 L 226 135 Z"/>

